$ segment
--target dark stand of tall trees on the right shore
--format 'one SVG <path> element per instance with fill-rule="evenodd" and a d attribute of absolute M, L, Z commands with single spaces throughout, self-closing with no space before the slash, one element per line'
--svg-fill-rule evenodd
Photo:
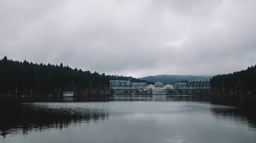
<path fill-rule="evenodd" d="M 216 96 L 255 97 L 256 65 L 247 70 L 213 76 L 210 83 L 211 92 Z"/>

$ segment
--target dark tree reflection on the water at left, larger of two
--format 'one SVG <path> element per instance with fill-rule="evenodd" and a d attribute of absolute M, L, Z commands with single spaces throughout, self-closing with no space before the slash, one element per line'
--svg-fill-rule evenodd
<path fill-rule="evenodd" d="M 9 103 L 0 102 L 0 135 L 22 133 L 47 129 L 62 129 L 70 125 L 99 122 L 108 118 L 108 109 L 99 106 L 81 106 L 76 103 Z M 77 103 L 78 104 L 78 103 Z M 84 103 L 85 104 L 85 103 Z"/>

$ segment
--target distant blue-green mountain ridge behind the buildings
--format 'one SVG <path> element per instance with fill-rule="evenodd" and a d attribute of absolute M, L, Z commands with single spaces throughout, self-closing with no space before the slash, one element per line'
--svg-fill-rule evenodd
<path fill-rule="evenodd" d="M 157 76 L 146 76 L 139 78 L 141 80 L 157 82 L 162 81 L 164 84 L 174 83 L 177 81 L 187 81 L 187 80 L 205 80 L 210 79 L 212 76 L 192 76 L 192 75 L 157 75 Z"/>

